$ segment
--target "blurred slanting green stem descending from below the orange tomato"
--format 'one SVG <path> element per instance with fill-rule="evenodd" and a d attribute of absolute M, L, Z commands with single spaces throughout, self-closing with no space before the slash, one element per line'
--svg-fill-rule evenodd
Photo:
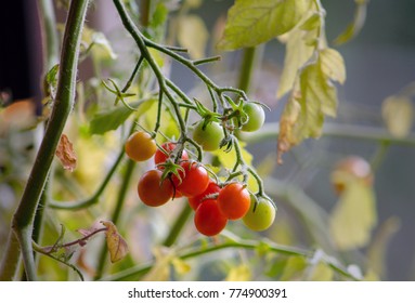
<path fill-rule="evenodd" d="M 128 193 L 128 188 L 129 188 L 129 184 L 130 184 L 130 181 L 131 181 L 132 172 L 134 171 L 134 167 L 135 167 L 135 162 L 132 161 L 132 160 L 128 160 L 127 168 L 126 168 L 126 173 L 124 175 L 122 184 L 121 184 L 121 187 L 120 187 L 119 193 L 118 193 L 117 202 L 115 205 L 115 209 L 114 209 L 114 212 L 113 212 L 113 215 L 112 215 L 112 219 L 111 219 L 111 221 L 115 225 L 117 225 L 117 223 L 118 223 L 118 220 L 119 220 L 122 207 L 124 207 L 124 202 L 126 200 L 126 196 L 127 196 L 127 193 Z M 103 271 L 104 271 L 104 267 L 105 267 L 105 261 L 106 261 L 107 254 L 108 254 L 108 250 L 106 248 L 106 243 L 103 243 L 103 246 L 101 247 L 101 250 L 100 250 L 100 256 L 99 256 L 96 274 L 95 274 L 94 279 L 100 279 L 102 277 L 102 274 L 103 274 Z"/>

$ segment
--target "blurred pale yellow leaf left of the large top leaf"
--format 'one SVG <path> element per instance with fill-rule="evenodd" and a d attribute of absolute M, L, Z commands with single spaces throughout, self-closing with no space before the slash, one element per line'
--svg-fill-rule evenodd
<path fill-rule="evenodd" d="M 205 57 L 209 32 L 205 23 L 197 15 L 184 15 L 179 18 L 178 40 L 180 45 L 189 50 L 192 58 Z"/>

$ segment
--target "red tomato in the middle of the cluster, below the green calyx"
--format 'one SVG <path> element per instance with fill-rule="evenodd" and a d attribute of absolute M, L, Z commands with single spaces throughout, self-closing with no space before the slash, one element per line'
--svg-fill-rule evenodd
<path fill-rule="evenodd" d="M 186 197 L 200 195 L 209 185 L 209 174 L 204 167 L 196 162 L 183 162 L 179 171 L 180 179 L 172 176 L 176 189 Z"/>

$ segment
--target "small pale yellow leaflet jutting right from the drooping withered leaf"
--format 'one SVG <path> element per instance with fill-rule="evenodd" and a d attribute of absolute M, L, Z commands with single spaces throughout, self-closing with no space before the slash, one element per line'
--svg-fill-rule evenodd
<path fill-rule="evenodd" d="M 324 49 L 320 52 L 320 60 L 323 74 L 327 75 L 334 81 L 341 84 L 345 83 L 345 61 L 338 51 L 334 49 Z"/>

